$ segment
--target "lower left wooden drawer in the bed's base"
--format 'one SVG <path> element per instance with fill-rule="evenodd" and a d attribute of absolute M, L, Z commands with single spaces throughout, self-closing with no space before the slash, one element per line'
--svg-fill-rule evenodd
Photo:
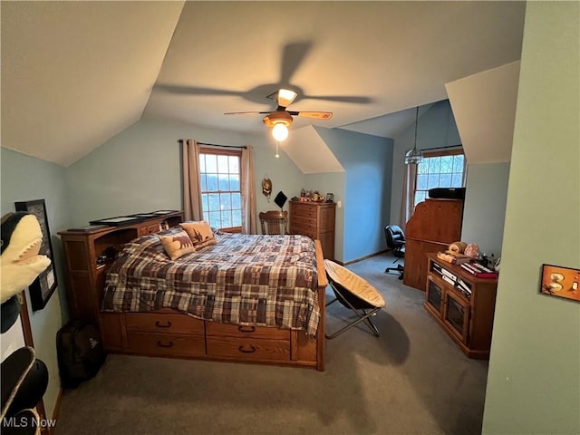
<path fill-rule="evenodd" d="M 128 333 L 129 350 L 160 356 L 201 356 L 206 354 L 203 335 L 173 333 Z"/>

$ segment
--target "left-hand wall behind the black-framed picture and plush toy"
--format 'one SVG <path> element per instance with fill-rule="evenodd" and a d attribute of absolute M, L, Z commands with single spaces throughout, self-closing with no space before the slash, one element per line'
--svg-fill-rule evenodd
<path fill-rule="evenodd" d="M 30 295 L 27 295 L 34 349 L 36 356 L 46 364 L 49 372 L 48 388 L 44 393 L 43 401 L 47 417 L 51 418 L 60 388 L 55 346 L 56 332 L 66 320 L 67 311 L 63 249 L 60 238 L 56 235 L 58 231 L 70 226 L 65 169 L 5 148 L 1 152 L 2 201 L 0 208 L 2 216 L 14 211 L 16 201 L 44 199 L 52 236 L 58 289 L 43 310 L 34 312 L 30 306 Z M 3 348 L 5 344 L 7 345 L 3 343 Z"/>

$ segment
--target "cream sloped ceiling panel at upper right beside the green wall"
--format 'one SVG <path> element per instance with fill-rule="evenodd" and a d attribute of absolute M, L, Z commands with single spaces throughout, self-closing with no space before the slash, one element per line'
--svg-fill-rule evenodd
<path fill-rule="evenodd" d="M 514 62 L 446 84 L 469 164 L 510 160 L 518 82 Z"/>

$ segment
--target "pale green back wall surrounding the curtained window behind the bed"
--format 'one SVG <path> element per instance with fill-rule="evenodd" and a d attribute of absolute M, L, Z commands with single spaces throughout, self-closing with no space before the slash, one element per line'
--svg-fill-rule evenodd
<path fill-rule="evenodd" d="M 262 195 L 261 180 L 272 180 L 273 197 L 283 190 L 288 198 L 301 189 L 303 174 L 264 136 L 208 130 L 188 124 L 139 121 L 105 142 L 66 171 L 73 225 L 96 218 L 159 209 L 181 209 L 179 139 L 220 145 L 252 145 L 256 174 L 257 210 L 277 209 Z M 285 207 L 287 209 L 287 206 Z"/>

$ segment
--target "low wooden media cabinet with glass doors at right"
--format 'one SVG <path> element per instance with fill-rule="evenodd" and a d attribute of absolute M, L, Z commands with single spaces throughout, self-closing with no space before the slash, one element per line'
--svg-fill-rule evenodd
<path fill-rule="evenodd" d="M 469 358 L 487 359 L 496 307 L 496 278 L 478 278 L 427 254 L 425 309 Z"/>

